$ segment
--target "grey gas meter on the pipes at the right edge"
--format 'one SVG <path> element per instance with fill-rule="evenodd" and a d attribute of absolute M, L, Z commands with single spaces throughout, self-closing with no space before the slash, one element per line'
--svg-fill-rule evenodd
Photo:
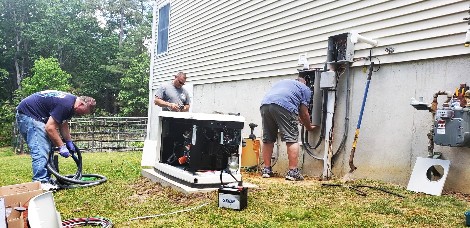
<path fill-rule="evenodd" d="M 437 115 L 434 123 L 433 139 L 435 144 L 470 147 L 469 108 L 439 108 L 436 110 L 436 114 L 439 115 Z"/>

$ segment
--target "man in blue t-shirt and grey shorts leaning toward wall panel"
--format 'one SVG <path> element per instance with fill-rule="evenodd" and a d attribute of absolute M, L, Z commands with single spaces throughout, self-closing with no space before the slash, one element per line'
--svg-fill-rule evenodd
<path fill-rule="evenodd" d="M 301 77 L 291 80 L 284 79 L 271 87 L 261 100 L 261 119 L 263 121 L 263 177 L 274 175 L 271 169 L 271 156 L 274 142 L 277 138 L 277 129 L 281 132 L 281 142 L 287 144 L 289 159 L 289 172 L 286 180 L 299 181 L 304 177 L 298 172 L 298 123 L 305 125 L 307 131 L 315 126 L 310 122 L 308 102 L 311 91 Z"/>

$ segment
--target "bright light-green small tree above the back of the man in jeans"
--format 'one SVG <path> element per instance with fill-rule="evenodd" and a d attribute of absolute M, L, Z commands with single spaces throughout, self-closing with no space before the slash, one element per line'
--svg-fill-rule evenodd
<path fill-rule="evenodd" d="M 23 79 L 22 88 L 16 91 L 17 95 L 24 97 L 43 90 L 68 91 L 71 87 L 69 79 L 72 76 L 62 71 L 55 58 L 44 59 L 39 56 L 31 72 L 34 75 Z"/>

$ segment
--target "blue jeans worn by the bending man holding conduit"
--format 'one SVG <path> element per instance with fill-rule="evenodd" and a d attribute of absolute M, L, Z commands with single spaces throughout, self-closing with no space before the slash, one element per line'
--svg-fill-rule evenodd
<path fill-rule="evenodd" d="M 31 151 L 32 181 L 48 182 L 47 153 L 51 150 L 52 142 L 47 136 L 46 124 L 19 113 L 16 113 L 16 124 Z"/>

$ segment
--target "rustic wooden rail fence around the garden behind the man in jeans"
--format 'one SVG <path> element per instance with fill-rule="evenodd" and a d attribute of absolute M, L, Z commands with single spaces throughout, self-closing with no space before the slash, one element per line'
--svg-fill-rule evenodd
<path fill-rule="evenodd" d="M 70 136 L 80 152 L 142 150 L 147 135 L 147 117 L 73 118 Z M 17 154 L 29 153 L 16 123 L 12 126 L 12 149 Z"/>

